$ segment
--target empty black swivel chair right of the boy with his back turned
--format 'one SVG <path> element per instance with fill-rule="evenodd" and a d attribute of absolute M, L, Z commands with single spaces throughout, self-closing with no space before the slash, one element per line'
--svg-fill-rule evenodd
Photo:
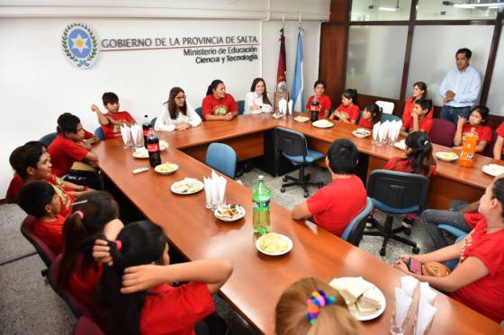
<path fill-rule="evenodd" d="M 373 200 L 374 208 L 387 214 L 384 224 L 376 220 L 372 224 L 377 230 L 365 231 L 365 235 L 383 236 L 383 245 L 380 255 L 385 256 L 387 242 L 390 239 L 398 240 L 413 248 L 413 253 L 418 254 L 420 249 L 417 243 L 405 239 L 397 233 L 409 232 L 403 226 L 392 229 L 392 214 L 422 213 L 428 194 L 428 177 L 403 173 L 391 170 L 374 170 L 367 179 L 367 196 Z"/>

